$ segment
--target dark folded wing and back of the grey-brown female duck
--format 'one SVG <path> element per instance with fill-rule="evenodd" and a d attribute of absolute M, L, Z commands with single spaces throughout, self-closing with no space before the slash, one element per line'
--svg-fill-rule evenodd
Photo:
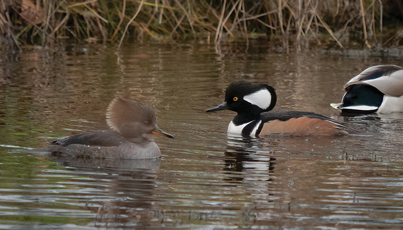
<path fill-rule="evenodd" d="M 61 146 L 68 146 L 70 144 L 84 144 L 91 146 L 117 146 L 122 141 L 124 141 L 124 138 L 111 130 L 99 130 L 59 138 L 57 140 L 48 142 L 48 144 L 58 144 Z"/>

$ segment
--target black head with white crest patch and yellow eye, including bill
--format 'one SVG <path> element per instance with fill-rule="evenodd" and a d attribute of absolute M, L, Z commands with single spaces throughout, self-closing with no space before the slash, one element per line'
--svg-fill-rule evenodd
<path fill-rule="evenodd" d="M 232 82 L 225 91 L 225 101 L 207 112 L 228 109 L 238 114 L 260 116 L 276 105 L 277 96 L 273 87 L 247 81 Z"/>

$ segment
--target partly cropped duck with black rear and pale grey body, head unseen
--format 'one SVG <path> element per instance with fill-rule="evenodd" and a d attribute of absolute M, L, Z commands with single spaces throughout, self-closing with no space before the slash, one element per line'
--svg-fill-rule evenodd
<path fill-rule="evenodd" d="M 331 107 L 345 114 L 403 112 L 403 68 L 376 65 L 365 69 L 344 86 L 342 103 Z"/>

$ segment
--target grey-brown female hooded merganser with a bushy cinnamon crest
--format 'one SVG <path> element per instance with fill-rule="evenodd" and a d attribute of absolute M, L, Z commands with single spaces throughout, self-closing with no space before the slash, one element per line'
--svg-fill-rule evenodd
<path fill-rule="evenodd" d="M 50 141 L 49 146 L 29 152 L 50 152 L 53 155 L 115 159 L 150 159 L 161 151 L 147 133 L 173 138 L 156 124 L 155 113 L 149 107 L 115 98 L 108 107 L 106 121 L 109 130 L 76 134 Z"/>

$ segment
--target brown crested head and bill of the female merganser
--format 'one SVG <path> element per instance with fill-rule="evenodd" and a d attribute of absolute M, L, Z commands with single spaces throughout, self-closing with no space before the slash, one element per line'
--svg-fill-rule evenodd
<path fill-rule="evenodd" d="M 172 134 L 158 128 L 154 111 L 137 102 L 115 98 L 109 104 L 106 117 L 109 127 L 126 139 L 138 138 L 146 133 L 173 138 Z"/>

